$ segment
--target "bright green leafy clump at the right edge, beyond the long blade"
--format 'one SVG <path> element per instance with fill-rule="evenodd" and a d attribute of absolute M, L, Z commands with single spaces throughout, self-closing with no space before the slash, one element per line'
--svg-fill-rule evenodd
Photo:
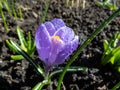
<path fill-rule="evenodd" d="M 102 65 L 111 63 L 113 68 L 120 72 L 120 32 L 117 32 L 109 41 L 103 42 L 104 53 L 101 59 Z"/>

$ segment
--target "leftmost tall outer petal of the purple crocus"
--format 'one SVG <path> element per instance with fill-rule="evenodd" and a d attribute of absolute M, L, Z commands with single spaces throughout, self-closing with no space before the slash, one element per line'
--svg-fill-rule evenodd
<path fill-rule="evenodd" d="M 44 24 L 41 24 L 36 31 L 35 42 L 40 59 L 45 62 L 51 49 L 51 37 Z"/>

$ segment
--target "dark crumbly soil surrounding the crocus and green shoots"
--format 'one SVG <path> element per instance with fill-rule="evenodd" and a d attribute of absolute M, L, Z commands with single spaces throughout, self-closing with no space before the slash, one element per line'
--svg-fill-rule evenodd
<path fill-rule="evenodd" d="M 45 0 L 18 0 L 15 2 L 16 7 L 17 4 L 23 7 L 24 20 L 22 22 L 10 17 L 7 11 L 3 9 L 9 25 L 9 32 L 6 32 L 3 21 L 0 18 L 0 90 L 31 90 L 34 85 L 43 80 L 26 60 L 11 60 L 10 55 L 14 53 L 7 47 L 5 40 L 14 39 L 18 41 L 16 34 L 17 25 L 23 29 L 25 35 L 30 31 L 34 38 L 35 31 L 41 22 L 42 12 L 45 9 Z M 51 0 L 46 21 L 53 18 L 62 18 L 79 35 L 80 44 L 82 44 L 111 14 L 112 11 L 97 6 L 93 0 L 86 0 L 84 9 L 82 7 L 66 7 L 65 0 Z M 100 65 L 103 40 L 108 40 L 119 29 L 120 16 L 116 17 L 72 64 L 72 66 L 88 67 L 88 71 L 67 73 L 61 90 L 108 90 L 119 82 L 119 73 L 109 65 Z M 35 53 L 34 59 L 39 60 L 37 53 Z M 42 65 L 41 61 L 40 64 Z M 52 79 L 54 90 L 58 78 L 59 75 L 56 75 Z M 44 90 L 46 88 L 48 87 L 46 86 Z"/>

